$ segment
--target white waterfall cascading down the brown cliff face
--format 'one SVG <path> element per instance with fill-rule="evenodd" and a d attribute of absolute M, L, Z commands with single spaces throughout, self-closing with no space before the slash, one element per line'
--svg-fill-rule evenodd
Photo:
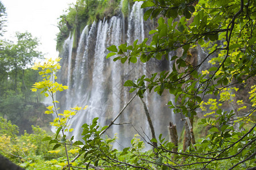
<path fill-rule="evenodd" d="M 77 49 L 72 49 L 73 37 L 69 37 L 64 42 L 63 52 L 60 53 L 63 61 L 58 80 L 59 83 L 67 84 L 69 90 L 57 96 L 60 103 L 63 101 L 65 103 L 60 105 L 60 110 L 63 111 L 76 105 L 80 107 L 88 105 L 88 109 L 77 113 L 70 121 L 74 131 L 68 135 L 75 135 L 76 140 L 81 139 L 82 124 L 90 124 L 94 117 L 99 117 L 101 126 L 108 125 L 131 99 L 134 94 L 129 93 L 129 88 L 123 87 L 126 80 L 138 79 L 143 74 L 150 76 L 155 72 L 170 70 L 170 62 L 166 59 L 161 61 L 151 59 L 147 63 L 138 61 L 138 63 L 130 64 L 106 59 L 108 46 L 118 46 L 125 42 L 132 44 L 136 39 L 142 42 L 146 37 L 144 32 L 147 33 L 149 30 L 146 30 L 145 25 L 152 25 L 152 23 L 143 21 L 141 4 L 142 2 L 134 3 L 127 22 L 120 15 L 86 26 L 80 38 L 78 37 Z M 125 23 L 127 25 L 124 25 Z M 147 26 L 147 29 L 150 27 Z M 123 35 L 124 33 L 125 35 Z M 124 40 L 123 37 L 126 39 Z M 76 53 L 72 53 L 72 51 Z M 72 62 L 72 59 L 75 61 Z M 72 65 L 72 63 L 74 64 Z M 176 122 L 176 120 L 172 120 L 175 117 L 172 116 L 172 111 L 166 105 L 170 99 L 171 96 L 168 92 L 162 96 L 154 92 L 144 94 L 143 100 L 151 114 L 156 135 L 160 133 L 167 135 L 168 122 Z M 138 97 L 135 97 L 115 123 L 123 122 L 132 122 L 139 133 L 143 134 L 144 132 L 150 137 L 143 104 Z M 113 125 L 107 134 L 113 137 L 117 133 L 119 143 L 122 143 L 122 146 L 127 146 L 133 135 L 138 133 L 133 126 L 131 124 Z"/>

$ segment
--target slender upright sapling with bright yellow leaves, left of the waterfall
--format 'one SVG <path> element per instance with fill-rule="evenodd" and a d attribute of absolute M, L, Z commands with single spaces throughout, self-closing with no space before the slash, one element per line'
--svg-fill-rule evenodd
<path fill-rule="evenodd" d="M 68 148 L 67 145 L 72 145 L 73 138 L 67 139 L 67 135 L 65 132 L 72 131 L 72 128 L 69 128 L 68 121 L 70 118 L 76 115 L 78 111 L 81 110 L 81 107 L 75 107 L 71 108 L 71 111 L 65 110 L 63 113 L 59 113 L 57 110 L 59 108 L 56 107 L 56 104 L 59 103 L 59 101 L 54 99 L 54 96 L 56 92 L 67 90 L 67 86 L 63 86 L 63 84 L 59 84 L 56 82 L 57 76 L 56 73 L 60 69 L 59 62 L 60 58 L 56 58 L 55 60 L 48 59 L 46 62 L 42 63 L 35 63 L 34 67 L 32 69 L 34 70 L 40 70 L 39 75 L 43 77 L 43 80 L 41 82 L 36 82 L 31 88 L 33 92 L 36 92 L 38 90 L 42 90 L 42 94 L 44 94 L 46 97 L 50 96 L 52 99 L 53 105 L 50 105 L 47 107 L 48 111 L 44 112 L 46 114 L 54 114 L 55 119 L 50 124 L 52 126 L 55 126 L 56 128 L 56 136 L 55 138 L 52 137 L 44 137 L 42 141 L 49 141 L 49 145 L 54 144 L 52 151 L 49 151 L 53 154 L 58 154 L 60 150 L 56 150 L 57 148 L 64 146 L 65 148 L 65 155 L 67 156 L 67 166 L 68 169 L 71 168 L 71 164 L 69 163 L 69 156 L 68 156 Z M 86 106 L 87 107 L 87 106 Z M 84 107 L 84 109 L 86 109 Z M 77 145 L 77 142 L 75 142 L 75 145 Z M 79 143 L 80 145 L 80 143 Z M 76 150 L 69 151 L 72 154 Z"/>

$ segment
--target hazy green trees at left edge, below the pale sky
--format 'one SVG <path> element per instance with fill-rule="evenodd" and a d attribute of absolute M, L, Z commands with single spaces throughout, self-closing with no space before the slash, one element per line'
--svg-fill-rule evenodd
<path fill-rule="evenodd" d="M 39 80 L 38 71 L 30 69 L 35 59 L 42 58 L 36 48 L 38 39 L 31 33 L 16 33 L 16 41 L 2 41 L 0 52 L 0 115 L 19 126 L 20 133 L 32 132 L 31 125 L 46 126 L 40 93 L 29 87 Z"/>

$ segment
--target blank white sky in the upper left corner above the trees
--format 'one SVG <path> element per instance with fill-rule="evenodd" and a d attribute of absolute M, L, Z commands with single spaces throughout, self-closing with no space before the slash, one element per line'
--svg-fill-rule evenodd
<path fill-rule="evenodd" d="M 38 37 L 39 51 L 47 58 L 56 58 L 57 18 L 76 0 L 0 0 L 6 7 L 5 39 L 14 40 L 15 32 L 30 32 Z"/>

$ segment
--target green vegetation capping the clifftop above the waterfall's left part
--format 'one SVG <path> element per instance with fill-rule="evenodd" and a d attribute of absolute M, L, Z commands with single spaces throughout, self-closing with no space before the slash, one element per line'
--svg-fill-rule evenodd
<path fill-rule="evenodd" d="M 85 25 L 90 25 L 94 21 L 108 19 L 117 15 L 120 11 L 120 0 L 79 0 L 72 4 L 65 11 L 67 14 L 61 15 L 58 27 L 60 32 L 57 34 L 57 50 L 61 51 L 63 42 L 69 36 L 69 32 L 80 31 Z M 128 5 L 132 3 L 125 0 L 123 3 L 124 14 L 127 13 Z"/>

